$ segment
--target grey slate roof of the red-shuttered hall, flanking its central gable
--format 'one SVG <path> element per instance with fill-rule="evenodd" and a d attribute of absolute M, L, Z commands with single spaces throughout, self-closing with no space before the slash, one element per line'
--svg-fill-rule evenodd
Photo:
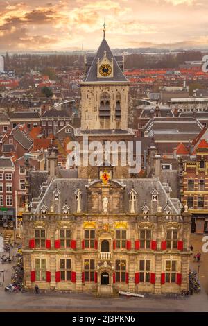
<path fill-rule="evenodd" d="M 101 182 L 101 180 L 93 180 L 92 183 Z M 125 212 L 129 212 L 129 193 L 133 189 L 137 192 L 137 207 L 135 209 L 135 212 L 138 214 L 142 213 L 142 207 L 144 206 L 144 203 L 146 201 L 146 205 L 150 207 L 150 214 L 156 213 L 157 211 L 157 204 L 164 209 L 166 206 L 166 203 L 168 201 L 168 205 L 170 205 L 173 214 L 178 214 L 179 212 L 173 205 L 171 198 L 168 197 L 166 194 L 166 191 L 164 189 L 164 186 L 162 183 L 157 179 L 125 179 L 125 180 L 112 180 L 112 182 L 116 182 L 121 187 L 123 186 L 125 189 L 125 195 L 124 195 L 124 207 Z M 92 184 L 91 183 L 91 184 Z M 87 212 L 87 187 L 89 187 L 89 183 L 87 179 L 77 179 L 77 178 L 54 178 L 49 186 L 44 191 L 43 196 L 40 195 L 40 197 L 33 198 L 36 202 L 36 209 L 35 213 L 41 212 L 42 205 L 46 205 L 48 209 L 51 207 L 51 203 L 53 203 L 53 191 L 55 191 L 56 188 L 60 191 L 60 200 L 58 200 L 58 203 L 54 205 L 54 210 L 57 213 L 62 213 L 62 207 L 66 203 L 70 207 L 70 212 L 75 213 L 76 212 L 76 198 L 75 193 L 76 190 L 80 189 L 82 192 L 82 200 L 81 200 L 81 212 Z M 157 189 L 159 195 L 158 195 L 158 202 L 153 205 L 152 202 L 152 195 L 151 192 Z M 33 200 L 33 202 L 34 202 Z M 34 203 L 35 204 L 35 203 Z M 35 207 L 35 205 L 33 205 Z"/>

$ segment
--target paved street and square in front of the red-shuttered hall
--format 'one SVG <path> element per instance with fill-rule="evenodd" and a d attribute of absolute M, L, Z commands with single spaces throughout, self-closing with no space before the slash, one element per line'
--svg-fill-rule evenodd
<path fill-rule="evenodd" d="M 200 251 L 202 236 L 191 235 L 193 252 Z M 191 263 L 197 270 L 197 264 Z M 208 290 L 208 253 L 202 254 L 200 264 L 200 282 Z M 5 264 L 6 280 L 4 285 L 10 282 L 12 264 Z M 2 267 L 2 266 L 1 266 Z M 1 269 L 1 268 L 0 268 Z M 2 280 L 2 277 L 1 277 Z M 208 311 L 208 295 L 202 288 L 198 294 L 187 298 L 96 298 L 87 293 L 5 293 L 4 287 L 0 288 L 0 311 Z"/>

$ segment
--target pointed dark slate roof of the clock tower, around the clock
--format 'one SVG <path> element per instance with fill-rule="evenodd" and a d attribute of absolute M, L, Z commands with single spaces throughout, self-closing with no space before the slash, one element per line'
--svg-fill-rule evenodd
<path fill-rule="evenodd" d="M 97 62 L 98 59 L 101 61 L 104 56 L 104 51 L 106 51 L 106 57 L 108 60 L 113 59 L 113 77 L 97 77 Z M 98 48 L 98 51 L 94 57 L 94 60 L 92 61 L 92 65 L 89 68 L 89 71 L 87 72 L 87 75 L 83 79 L 83 82 L 124 82 L 124 83 L 129 83 L 128 79 L 125 77 L 123 74 L 123 71 L 118 65 L 118 62 L 116 61 L 116 58 L 112 54 L 112 51 L 110 50 L 109 45 L 107 44 L 107 41 L 105 38 L 103 38 L 101 45 Z"/>

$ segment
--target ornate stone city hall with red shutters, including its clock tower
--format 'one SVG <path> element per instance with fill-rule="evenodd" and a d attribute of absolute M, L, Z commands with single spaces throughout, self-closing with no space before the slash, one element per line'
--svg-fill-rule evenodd
<path fill-rule="evenodd" d="M 133 139 L 128 90 L 123 58 L 112 54 L 104 29 L 96 55 L 85 58 L 80 144 L 83 135 L 89 143 Z M 168 184 L 130 178 L 128 166 L 110 162 L 59 178 L 56 164 L 51 147 L 49 182 L 23 214 L 26 286 L 97 295 L 188 289 L 191 220 Z"/>

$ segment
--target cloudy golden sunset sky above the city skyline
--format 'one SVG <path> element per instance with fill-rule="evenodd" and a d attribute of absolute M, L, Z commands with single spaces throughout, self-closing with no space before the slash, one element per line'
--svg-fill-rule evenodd
<path fill-rule="evenodd" d="M 207 0 L 0 0 L 0 51 L 208 47 Z"/>

